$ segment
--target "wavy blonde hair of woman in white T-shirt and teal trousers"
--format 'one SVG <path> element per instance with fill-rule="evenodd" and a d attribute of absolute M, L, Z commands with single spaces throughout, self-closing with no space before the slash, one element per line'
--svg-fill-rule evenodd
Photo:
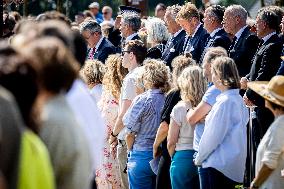
<path fill-rule="evenodd" d="M 189 101 L 192 107 L 196 107 L 201 102 L 207 85 L 203 77 L 202 69 L 199 66 L 189 66 L 185 68 L 178 78 L 181 99 Z"/>

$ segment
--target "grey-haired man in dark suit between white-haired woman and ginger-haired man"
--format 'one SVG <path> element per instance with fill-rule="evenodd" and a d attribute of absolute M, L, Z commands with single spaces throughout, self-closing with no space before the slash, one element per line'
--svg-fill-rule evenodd
<path fill-rule="evenodd" d="M 166 62 L 167 66 L 172 69 L 172 60 L 182 52 L 182 45 L 186 32 L 175 21 L 177 13 L 180 11 L 181 6 L 174 5 L 167 7 L 165 14 L 165 22 L 171 37 L 169 38 L 166 48 L 162 54 L 162 60 Z"/>

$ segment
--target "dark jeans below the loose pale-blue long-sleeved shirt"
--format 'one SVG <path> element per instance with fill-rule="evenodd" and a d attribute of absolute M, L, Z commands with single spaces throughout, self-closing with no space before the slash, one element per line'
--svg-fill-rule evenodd
<path fill-rule="evenodd" d="M 201 189 L 234 189 L 239 184 L 212 167 L 199 168 L 198 172 Z"/>

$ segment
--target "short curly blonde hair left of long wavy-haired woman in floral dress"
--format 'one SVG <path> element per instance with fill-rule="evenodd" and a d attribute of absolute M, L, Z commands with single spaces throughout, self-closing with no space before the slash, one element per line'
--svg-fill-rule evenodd
<path fill-rule="evenodd" d="M 80 75 L 89 84 L 102 83 L 105 65 L 98 60 L 88 60 L 80 70 Z"/>

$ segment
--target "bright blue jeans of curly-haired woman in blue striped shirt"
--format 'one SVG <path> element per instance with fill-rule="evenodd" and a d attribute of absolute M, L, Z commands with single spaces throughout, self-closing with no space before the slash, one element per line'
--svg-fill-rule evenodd
<path fill-rule="evenodd" d="M 156 175 L 150 167 L 153 151 L 130 151 L 128 154 L 128 180 L 130 189 L 154 189 Z"/>

